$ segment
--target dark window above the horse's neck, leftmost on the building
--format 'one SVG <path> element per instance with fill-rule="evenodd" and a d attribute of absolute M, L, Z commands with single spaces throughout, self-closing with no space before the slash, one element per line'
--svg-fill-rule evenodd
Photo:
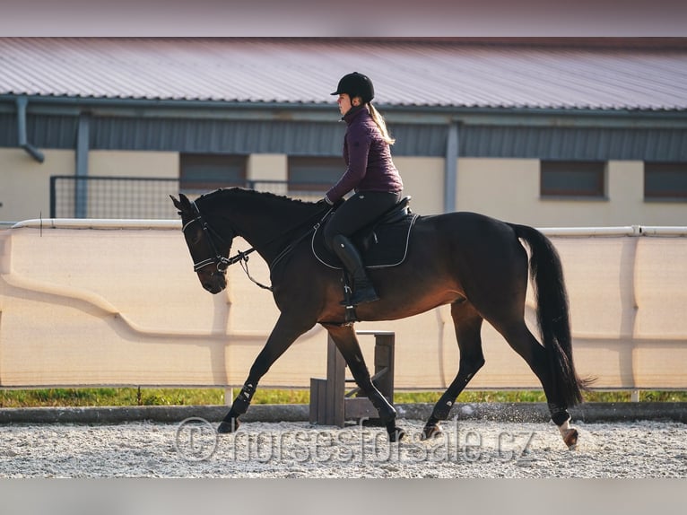
<path fill-rule="evenodd" d="M 187 194 L 202 194 L 218 188 L 246 186 L 248 156 L 182 153 L 179 187 Z"/>

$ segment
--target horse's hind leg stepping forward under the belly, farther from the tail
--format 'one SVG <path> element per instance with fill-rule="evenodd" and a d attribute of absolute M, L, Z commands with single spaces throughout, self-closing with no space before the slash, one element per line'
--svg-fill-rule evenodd
<path fill-rule="evenodd" d="M 462 301 L 451 305 L 451 317 L 460 350 L 458 373 L 456 379 L 451 382 L 444 395 L 439 398 L 434 406 L 430 418 L 422 429 L 420 436 L 422 440 L 439 435 L 441 432 L 439 422 L 448 418 L 448 413 L 458 395 L 484 364 L 482 336 L 480 335 L 482 316 L 474 310 L 472 304 Z"/>

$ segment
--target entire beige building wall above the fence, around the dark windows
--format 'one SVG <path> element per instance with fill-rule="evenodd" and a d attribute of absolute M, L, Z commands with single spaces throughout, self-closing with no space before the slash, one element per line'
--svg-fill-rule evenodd
<path fill-rule="evenodd" d="M 0 149 L 0 221 L 17 222 L 49 216 L 49 178 L 72 175 L 74 152 L 44 150 L 39 163 L 21 149 Z M 444 160 L 395 157 L 404 179 L 404 194 L 413 196 L 418 214 L 444 210 Z M 91 151 L 91 176 L 178 177 L 178 153 Z M 248 179 L 287 179 L 286 154 L 254 154 Z M 641 161 L 609 161 L 608 198 L 542 199 L 539 161 L 535 159 L 461 158 L 457 162 L 458 211 L 475 211 L 536 227 L 618 225 L 687 225 L 687 203 L 645 202 Z"/>

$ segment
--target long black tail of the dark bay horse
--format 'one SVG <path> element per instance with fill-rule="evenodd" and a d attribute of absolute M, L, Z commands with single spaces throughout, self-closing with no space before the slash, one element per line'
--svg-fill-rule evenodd
<path fill-rule="evenodd" d="M 561 258 L 540 231 L 526 225 L 509 224 L 530 249 L 530 276 L 535 288 L 537 321 L 552 367 L 557 397 L 567 406 L 582 402 L 586 380 L 580 380 L 572 361 L 572 337 L 568 292 L 563 281 Z"/>

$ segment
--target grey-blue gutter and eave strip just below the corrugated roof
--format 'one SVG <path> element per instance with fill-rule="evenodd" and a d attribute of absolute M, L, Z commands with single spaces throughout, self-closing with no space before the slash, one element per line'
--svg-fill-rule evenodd
<path fill-rule="evenodd" d="M 159 100 L 0 94 L 0 112 L 15 112 L 28 100 L 29 114 L 100 117 L 213 118 L 257 121 L 331 122 L 340 117 L 329 102 Z M 597 109 L 510 106 L 399 105 L 378 103 L 389 123 L 547 127 L 687 128 L 687 109 Z"/>

